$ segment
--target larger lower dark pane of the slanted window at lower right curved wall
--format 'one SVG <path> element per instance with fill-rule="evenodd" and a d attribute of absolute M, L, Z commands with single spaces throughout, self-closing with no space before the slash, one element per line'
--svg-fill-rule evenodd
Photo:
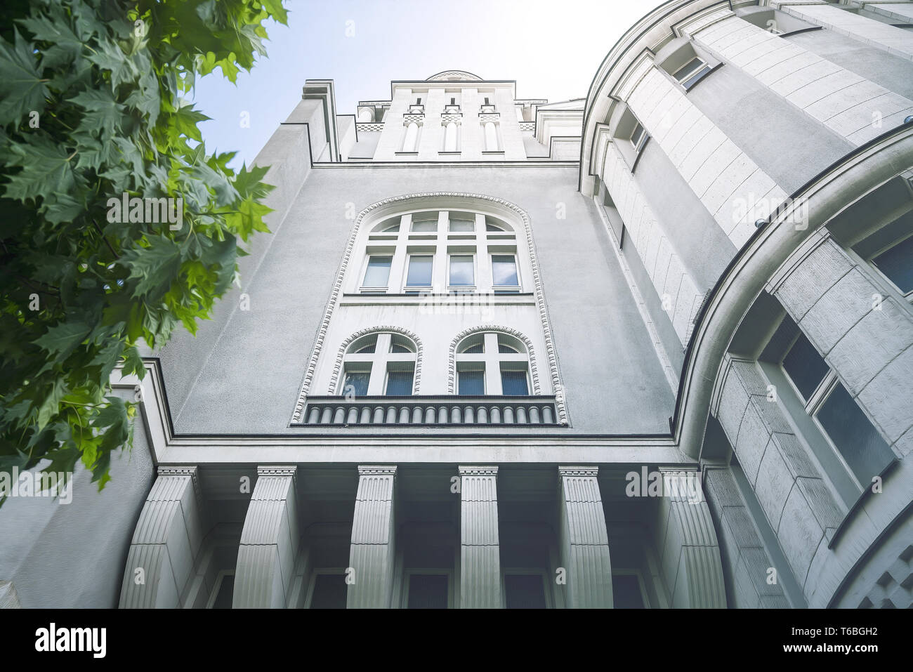
<path fill-rule="evenodd" d="M 872 477 L 894 459 L 885 440 L 841 383 L 816 415 L 862 487 L 868 488 Z"/>

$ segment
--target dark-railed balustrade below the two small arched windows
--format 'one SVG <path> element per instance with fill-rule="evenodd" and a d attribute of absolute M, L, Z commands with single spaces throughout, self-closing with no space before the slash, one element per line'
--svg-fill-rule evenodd
<path fill-rule="evenodd" d="M 555 397 L 311 396 L 300 425 L 557 425 Z"/>

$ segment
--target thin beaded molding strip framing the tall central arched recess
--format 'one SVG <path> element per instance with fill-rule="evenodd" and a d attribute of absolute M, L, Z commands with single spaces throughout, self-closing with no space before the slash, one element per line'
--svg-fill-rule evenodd
<path fill-rule="evenodd" d="M 489 204 L 496 204 L 503 208 L 508 209 L 513 215 L 519 217 L 520 221 L 523 223 L 523 229 L 526 233 L 527 248 L 530 255 L 530 266 L 532 267 L 532 277 L 535 284 L 535 294 L 536 294 L 536 303 L 539 307 L 540 321 L 542 324 L 542 336 L 545 341 L 545 351 L 546 356 L 549 362 L 549 373 L 551 375 L 551 387 L 555 394 L 555 405 L 558 411 L 558 422 L 560 425 L 568 425 L 568 413 L 567 408 L 564 404 L 564 391 L 561 386 L 561 376 L 558 371 L 558 357 L 555 354 L 554 341 L 551 337 L 551 323 L 548 317 L 548 310 L 545 303 L 545 292 L 542 289 L 542 280 L 539 269 L 539 259 L 536 256 L 536 247 L 535 241 L 532 236 L 532 224 L 530 221 L 530 215 L 526 213 L 525 210 L 520 208 L 518 205 L 514 205 L 509 201 L 504 200 L 503 198 L 496 198 L 495 196 L 489 196 L 487 194 L 469 194 L 466 192 L 419 192 L 415 194 L 404 194 L 401 196 L 392 196 L 390 198 L 384 198 L 381 201 L 377 201 L 372 205 L 364 208 L 362 212 L 355 217 L 355 224 L 352 226 L 352 233 L 349 235 L 349 240 L 346 244 L 345 251 L 342 254 L 342 260 L 340 262 L 340 267 L 336 272 L 336 279 L 333 282 L 333 288 L 331 289 L 330 299 L 327 301 L 326 309 L 323 311 L 323 319 L 320 320 L 320 327 L 317 331 L 317 336 L 314 339 L 314 348 L 313 352 L 310 355 L 310 362 L 308 363 L 308 368 L 304 374 L 304 379 L 301 382 L 301 387 L 299 390 L 298 401 L 295 404 L 295 409 L 292 413 L 291 423 L 297 424 L 301 422 L 302 414 L 304 412 L 304 406 L 307 402 L 308 394 L 310 393 L 310 385 L 313 383 L 314 374 L 317 371 L 317 362 L 320 360 L 320 352 L 323 350 L 324 342 L 326 341 L 327 332 L 330 329 L 330 320 L 333 314 L 333 309 L 336 307 L 337 303 L 341 298 L 342 293 L 342 280 L 345 278 L 346 269 L 349 268 L 349 262 L 352 259 L 352 254 L 355 248 L 355 242 L 358 240 L 359 233 L 361 231 L 362 223 L 365 221 L 369 215 L 379 208 L 383 208 L 388 205 L 397 205 L 405 204 L 409 201 L 415 201 L 419 199 L 446 199 L 446 198 L 466 198 L 477 201 L 487 202 Z M 416 343 L 417 346 L 417 343 Z M 416 367 L 418 362 L 416 362 Z M 530 349 L 530 371 L 532 370 L 532 352 Z M 337 373 L 338 375 L 338 373 Z M 416 373 L 417 376 L 417 373 Z M 417 382 L 416 382 L 417 385 Z M 417 388 L 416 388 L 417 389 Z"/>

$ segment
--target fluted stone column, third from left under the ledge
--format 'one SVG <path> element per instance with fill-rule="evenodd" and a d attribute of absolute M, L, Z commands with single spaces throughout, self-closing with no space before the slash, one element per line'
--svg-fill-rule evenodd
<path fill-rule="evenodd" d="M 387 609 L 394 585 L 396 466 L 358 467 L 349 551 L 348 609 Z"/>

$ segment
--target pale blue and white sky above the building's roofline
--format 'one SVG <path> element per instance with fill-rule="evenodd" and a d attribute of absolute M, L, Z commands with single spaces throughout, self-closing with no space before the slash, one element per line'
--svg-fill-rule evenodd
<path fill-rule="evenodd" d="M 270 22 L 268 57 L 237 85 L 197 80 L 207 149 L 249 165 L 301 97 L 305 79 L 333 79 L 339 114 L 388 100 L 392 79 L 463 69 L 516 79 L 519 98 L 582 98 L 615 40 L 659 0 L 286 0 Z M 347 30 L 348 29 L 348 30 Z M 349 35 L 347 35 L 349 33 Z M 241 127 L 247 111 L 250 128 Z"/>

